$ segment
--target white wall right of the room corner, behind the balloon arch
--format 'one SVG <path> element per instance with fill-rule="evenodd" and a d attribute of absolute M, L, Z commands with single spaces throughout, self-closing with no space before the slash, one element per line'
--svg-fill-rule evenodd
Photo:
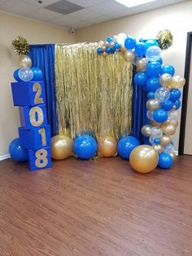
<path fill-rule="evenodd" d="M 176 68 L 176 73 L 183 75 L 186 35 L 187 32 L 192 31 L 192 1 L 79 29 L 76 33 L 76 41 L 98 42 L 120 32 L 131 34 L 136 38 L 155 38 L 161 29 L 170 29 L 174 36 L 173 46 L 168 51 L 164 51 L 164 64 L 172 64 Z M 177 148 L 179 127 L 174 142 Z"/>

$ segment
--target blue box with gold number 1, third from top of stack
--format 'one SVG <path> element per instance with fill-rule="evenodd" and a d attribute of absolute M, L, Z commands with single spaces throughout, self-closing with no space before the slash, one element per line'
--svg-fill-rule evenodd
<path fill-rule="evenodd" d="M 22 148 L 37 150 L 50 146 L 50 126 L 41 128 L 25 129 L 19 128 L 20 145 Z"/>

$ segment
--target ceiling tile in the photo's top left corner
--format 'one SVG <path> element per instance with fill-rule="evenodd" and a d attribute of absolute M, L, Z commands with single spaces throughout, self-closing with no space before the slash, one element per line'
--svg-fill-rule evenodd
<path fill-rule="evenodd" d="M 0 5 L 0 10 L 14 13 L 16 15 L 25 15 L 29 12 L 36 11 L 37 6 L 21 0 L 7 0 Z"/>

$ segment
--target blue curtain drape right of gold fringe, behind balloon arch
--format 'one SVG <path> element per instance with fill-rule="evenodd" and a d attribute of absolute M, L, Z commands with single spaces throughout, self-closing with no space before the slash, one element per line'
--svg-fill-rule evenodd
<path fill-rule="evenodd" d="M 136 68 L 133 68 L 133 77 L 136 73 Z M 141 133 L 142 126 L 149 123 L 146 117 L 146 92 L 140 86 L 137 86 L 133 81 L 133 101 L 132 101 L 132 130 L 131 135 L 136 137 L 140 143 L 149 143 L 148 138 Z"/>

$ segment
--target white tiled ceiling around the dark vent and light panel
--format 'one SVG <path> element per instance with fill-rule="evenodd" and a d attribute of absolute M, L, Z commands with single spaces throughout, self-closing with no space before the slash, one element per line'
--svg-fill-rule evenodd
<path fill-rule="evenodd" d="M 40 4 L 37 0 L 0 0 L 0 11 L 67 28 L 81 29 L 92 24 L 114 20 L 186 0 L 156 0 L 155 2 L 149 2 L 131 8 L 124 7 L 115 0 L 68 0 L 68 2 L 85 8 L 68 15 L 62 15 L 58 12 L 45 9 L 45 7 L 59 2 L 59 0 L 41 1 L 42 3 Z"/>

